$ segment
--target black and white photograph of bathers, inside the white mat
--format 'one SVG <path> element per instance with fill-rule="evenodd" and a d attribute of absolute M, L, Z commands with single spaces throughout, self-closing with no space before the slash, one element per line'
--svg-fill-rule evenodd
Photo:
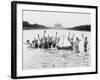
<path fill-rule="evenodd" d="M 91 14 L 23 10 L 23 69 L 91 66 Z"/>

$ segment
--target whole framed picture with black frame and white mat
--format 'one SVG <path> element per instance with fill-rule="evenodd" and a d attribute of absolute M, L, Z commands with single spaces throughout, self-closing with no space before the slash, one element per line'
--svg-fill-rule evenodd
<path fill-rule="evenodd" d="M 12 76 L 97 73 L 96 6 L 12 4 Z"/>

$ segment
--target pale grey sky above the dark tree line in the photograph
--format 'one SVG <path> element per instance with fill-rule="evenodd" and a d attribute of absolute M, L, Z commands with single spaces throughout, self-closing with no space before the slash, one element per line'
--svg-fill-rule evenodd
<path fill-rule="evenodd" d="M 24 10 L 23 21 L 28 21 L 30 24 L 41 24 L 47 27 L 54 27 L 58 23 L 62 24 L 63 27 L 74 27 L 91 24 L 91 14 Z"/>

